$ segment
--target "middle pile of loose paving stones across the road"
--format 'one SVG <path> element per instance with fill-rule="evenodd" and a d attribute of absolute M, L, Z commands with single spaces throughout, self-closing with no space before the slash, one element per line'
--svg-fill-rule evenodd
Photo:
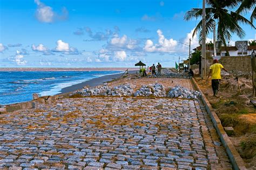
<path fill-rule="evenodd" d="M 166 91 L 164 90 L 164 86 L 156 83 L 156 84 L 149 84 L 143 85 L 139 90 L 137 90 L 134 94 L 134 97 L 137 96 L 156 96 L 156 97 L 166 97 Z"/>

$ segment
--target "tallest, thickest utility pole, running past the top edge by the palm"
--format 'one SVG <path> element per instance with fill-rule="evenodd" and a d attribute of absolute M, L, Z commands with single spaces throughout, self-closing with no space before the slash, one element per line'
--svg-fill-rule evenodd
<path fill-rule="evenodd" d="M 201 61 L 201 64 L 202 64 L 202 67 L 201 67 L 201 78 L 205 78 L 206 77 L 206 52 L 205 52 L 205 0 L 203 0 L 203 29 L 202 29 L 202 50 L 201 50 L 201 53 L 202 53 L 202 61 Z"/>

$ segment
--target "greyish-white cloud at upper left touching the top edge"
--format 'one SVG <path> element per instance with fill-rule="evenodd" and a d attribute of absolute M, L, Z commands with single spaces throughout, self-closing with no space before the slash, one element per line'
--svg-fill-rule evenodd
<path fill-rule="evenodd" d="M 62 15 L 57 15 L 51 8 L 51 6 L 46 6 L 40 0 L 35 0 L 37 4 L 36 18 L 39 22 L 52 23 L 56 20 L 63 20 L 68 17 L 68 10 L 66 8 L 62 9 Z"/>

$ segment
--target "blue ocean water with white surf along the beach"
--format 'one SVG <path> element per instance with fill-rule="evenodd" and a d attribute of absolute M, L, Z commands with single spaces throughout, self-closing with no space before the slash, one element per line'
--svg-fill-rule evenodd
<path fill-rule="evenodd" d="M 32 100 L 32 93 L 52 96 L 64 87 L 120 71 L 13 71 L 0 72 L 0 105 Z"/>

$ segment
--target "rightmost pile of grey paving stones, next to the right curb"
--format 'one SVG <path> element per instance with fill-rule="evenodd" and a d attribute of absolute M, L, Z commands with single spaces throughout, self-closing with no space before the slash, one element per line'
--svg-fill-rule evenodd
<path fill-rule="evenodd" d="M 182 86 L 175 86 L 173 87 L 169 92 L 167 97 L 174 98 L 187 98 L 187 99 L 197 99 L 200 97 L 200 92 L 199 91 L 191 91 L 186 89 L 185 87 Z"/>

